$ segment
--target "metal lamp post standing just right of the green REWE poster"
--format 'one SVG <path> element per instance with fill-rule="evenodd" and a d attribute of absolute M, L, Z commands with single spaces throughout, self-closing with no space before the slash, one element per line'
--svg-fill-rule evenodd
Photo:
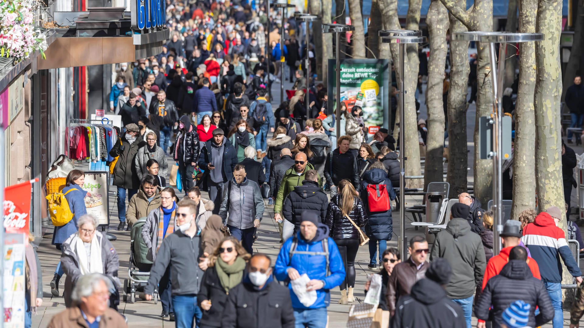
<path fill-rule="evenodd" d="M 381 30 L 379 31 L 381 42 L 399 44 L 399 253 L 402 259 L 406 259 L 408 252 L 408 238 L 405 236 L 405 158 L 404 158 L 404 135 L 405 135 L 405 89 L 404 62 L 405 45 L 410 43 L 426 42 L 426 37 L 422 36 L 419 30 Z M 395 64 L 395 61 L 394 61 Z"/>

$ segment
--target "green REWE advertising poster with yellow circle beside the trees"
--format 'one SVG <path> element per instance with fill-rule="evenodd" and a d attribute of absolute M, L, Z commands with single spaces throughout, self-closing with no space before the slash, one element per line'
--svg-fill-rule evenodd
<path fill-rule="evenodd" d="M 387 60 L 340 61 L 340 101 L 348 109 L 361 106 L 366 127 L 389 125 L 389 69 Z M 328 62 L 328 111 L 336 108 L 336 60 Z"/>

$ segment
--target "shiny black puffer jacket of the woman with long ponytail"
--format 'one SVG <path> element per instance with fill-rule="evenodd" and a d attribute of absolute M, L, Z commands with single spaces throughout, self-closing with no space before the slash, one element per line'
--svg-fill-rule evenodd
<path fill-rule="evenodd" d="M 353 224 L 340 211 L 341 197 L 336 195 L 332 197 L 331 203 L 326 209 L 326 222 L 329 226 L 330 236 L 332 239 L 357 239 L 359 240 L 359 232 Z M 365 214 L 365 207 L 359 197 L 353 197 L 353 210 L 349 213 L 349 217 L 358 226 L 367 224 L 367 214 Z"/>

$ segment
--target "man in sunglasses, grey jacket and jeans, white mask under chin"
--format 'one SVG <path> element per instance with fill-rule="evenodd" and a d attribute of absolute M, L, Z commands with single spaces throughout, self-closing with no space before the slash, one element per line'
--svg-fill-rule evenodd
<path fill-rule="evenodd" d="M 203 278 L 203 271 L 198 265 L 203 249 L 200 247 L 200 231 L 194 224 L 196 214 L 197 205 L 188 198 L 176 205 L 175 218 L 179 229 L 162 240 L 152 264 L 148 284 L 144 288 L 144 297 L 150 301 L 166 267 L 172 267 L 172 307 L 175 309 L 178 328 L 191 328 L 194 323 L 199 326 L 199 320 L 203 316 L 199 306 L 196 306 L 197 293 Z"/>

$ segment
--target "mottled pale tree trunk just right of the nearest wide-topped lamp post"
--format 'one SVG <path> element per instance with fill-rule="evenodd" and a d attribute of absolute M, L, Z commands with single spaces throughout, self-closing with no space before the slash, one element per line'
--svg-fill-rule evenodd
<path fill-rule="evenodd" d="M 521 0 L 519 4 L 519 32 L 536 32 L 537 0 Z M 536 127 L 533 95 L 536 88 L 536 44 L 519 44 L 519 90 L 515 106 L 515 149 L 513 149 L 513 211 L 519 219 L 523 210 L 535 207 Z"/>

